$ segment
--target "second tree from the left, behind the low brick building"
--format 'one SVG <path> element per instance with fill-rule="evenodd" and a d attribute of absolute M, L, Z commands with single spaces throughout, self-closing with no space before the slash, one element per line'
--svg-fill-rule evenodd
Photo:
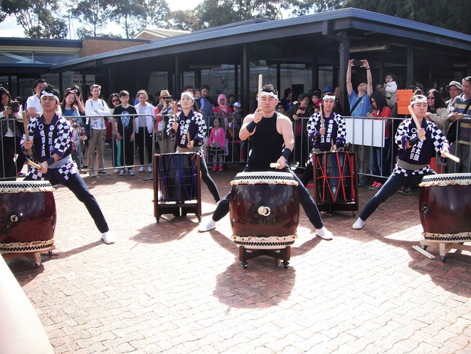
<path fill-rule="evenodd" d="M 101 34 L 99 31 L 106 27 L 110 19 L 110 12 L 107 0 L 79 1 L 77 6 L 72 9 L 74 18 L 83 24 L 77 30 L 78 38 L 99 36 Z"/>

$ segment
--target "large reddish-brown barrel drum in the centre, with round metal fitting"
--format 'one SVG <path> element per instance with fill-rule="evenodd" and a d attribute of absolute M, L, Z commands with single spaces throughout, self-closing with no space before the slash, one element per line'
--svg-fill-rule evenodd
<path fill-rule="evenodd" d="M 231 182 L 229 214 L 236 236 L 290 236 L 297 233 L 300 203 L 289 172 L 240 172 Z"/>

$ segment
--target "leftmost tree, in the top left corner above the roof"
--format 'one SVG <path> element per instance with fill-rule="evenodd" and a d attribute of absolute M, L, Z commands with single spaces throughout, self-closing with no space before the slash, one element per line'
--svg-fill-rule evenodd
<path fill-rule="evenodd" d="M 14 16 L 29 38 L 65 38 L 67 24 L 58 10 L 57 0 L 2 0 L 0 17 Z"/>

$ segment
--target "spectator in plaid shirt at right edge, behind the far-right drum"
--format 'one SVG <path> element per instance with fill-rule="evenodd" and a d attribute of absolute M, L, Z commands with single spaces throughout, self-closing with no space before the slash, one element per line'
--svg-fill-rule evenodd
<path fill-rule="evenodd" d="M 457 124 L 457 131 L 450 132 L 453 135 L 453 140 L 456 140 L 452 145 L 452 153 L 460 158 L 460 162 L 448 161 L 448 172 L 450 173 L 468 173 L 471 170 L 471 76 L 462 79 L 461 88 L 462 93 L 453 100 L 450 115 L 448 115 L 450 121 Z M 451 140 L 450 135 L 447 136 Z"/>

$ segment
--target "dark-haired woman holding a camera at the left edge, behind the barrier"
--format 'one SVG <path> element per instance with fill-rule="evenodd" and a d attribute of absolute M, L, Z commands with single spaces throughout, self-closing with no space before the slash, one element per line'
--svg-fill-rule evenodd
<path fill-rule="evenodd" d="M 0 178 L 13 177 L 9 179 L 15 180 L 14 157 L 16 153 L 20 156 L 23 155 L 19 145 L 22 134 L 16 126 L 16 120 L 23 122 L 21 105 L 11 100 L 11 95 L 6 88 L 0 87 L 0 95 L 2 105 L 0 112 Z M 21 164 L 22 166 L 23 164 Z"/>

